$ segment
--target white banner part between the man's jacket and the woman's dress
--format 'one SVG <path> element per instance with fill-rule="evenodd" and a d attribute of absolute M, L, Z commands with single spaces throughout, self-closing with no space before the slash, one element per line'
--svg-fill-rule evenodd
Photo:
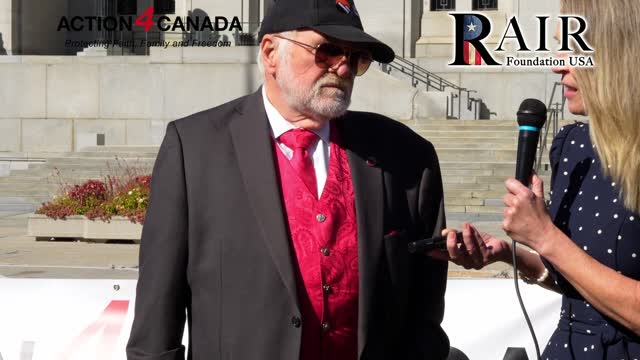
<path fill-rule="evenodd" d="M 561 296 L 523 282 L 520 294 L 542 352 L 560 319 Z M 445 299 L 442 327 L 470 360 L 502 360 L 508 347 L 526 348 L 536 359 L 513 279 L 449 280 Z"/>

